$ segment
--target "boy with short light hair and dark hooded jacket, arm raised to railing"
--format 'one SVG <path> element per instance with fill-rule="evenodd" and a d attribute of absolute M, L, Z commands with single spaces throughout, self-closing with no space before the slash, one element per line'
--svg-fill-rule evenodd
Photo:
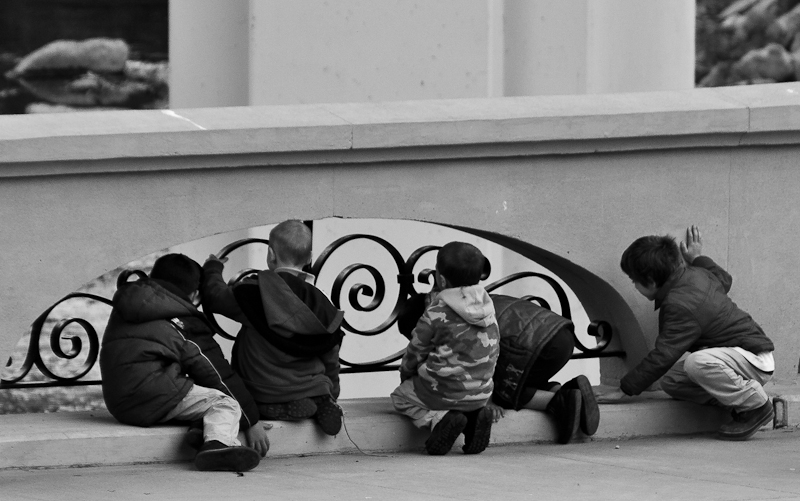
<path fill-rule="evenodd" d="M 242 324 L 233 368 L 255 398 L 263 419 L 313 417 L 323 432 L 342 426 L 339 397 L 340 329 L 344 314 L 303 271 L 311 262 L 311 230 L 289 220 L 269 234 L 267 267 L 228 286 L 224 261 L 203 265 L 203 307 Z"/>

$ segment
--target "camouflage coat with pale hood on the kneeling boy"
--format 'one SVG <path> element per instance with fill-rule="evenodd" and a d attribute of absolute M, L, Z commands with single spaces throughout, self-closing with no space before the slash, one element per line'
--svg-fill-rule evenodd
<path fill-rule="evenodd" d="M 431 296 L 400 365 L 419 399 L 432 410 L 470 411 L 492 395 L 500 333 L 494 305 L 478 285 Z"/>

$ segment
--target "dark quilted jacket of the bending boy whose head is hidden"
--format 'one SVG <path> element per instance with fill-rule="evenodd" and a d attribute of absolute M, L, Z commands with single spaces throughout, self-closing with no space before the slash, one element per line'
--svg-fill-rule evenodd
<path fill-rule="evenodd" d="M 500 328 L 492 400 L 519 410 L 525 380 L 542 347 L 561 329 L 574 332 L 574 326 L 571 320 L 530 301 L 500 294 L 493 294 L 492 301 Z"/>

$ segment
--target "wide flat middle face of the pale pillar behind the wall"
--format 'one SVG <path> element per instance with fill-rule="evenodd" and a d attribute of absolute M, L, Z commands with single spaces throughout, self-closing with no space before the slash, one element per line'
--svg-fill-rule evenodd
<path fill-rule="evenodd" d="M 251 6 L 251 104 L 487 96 L 487 0 Z"/>

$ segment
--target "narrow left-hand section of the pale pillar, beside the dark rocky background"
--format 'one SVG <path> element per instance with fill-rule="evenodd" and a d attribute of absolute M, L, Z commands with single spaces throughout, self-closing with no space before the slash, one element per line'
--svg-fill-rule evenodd
<path fill-rule="evenodd" d="M 170 108 L 250 104 L 249 0 L 170 0 Z"/>

